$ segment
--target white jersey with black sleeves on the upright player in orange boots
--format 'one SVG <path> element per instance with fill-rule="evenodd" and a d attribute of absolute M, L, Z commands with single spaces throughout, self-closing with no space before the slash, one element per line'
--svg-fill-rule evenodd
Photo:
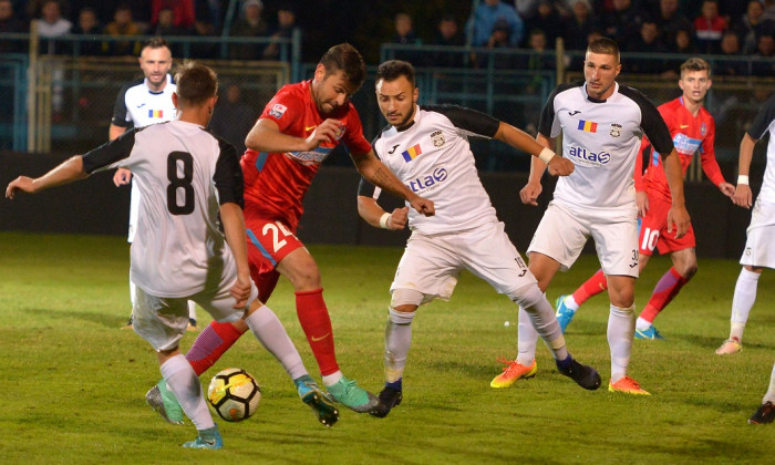
<path fill-rule="evenodd" d="M 576 169 L 558 178 L 554 198 L 571 209 L 633 207 L 632 174 L 643 134 L 658 153 L 673 149 L 657 107 L 639 91 L 616 82 L 613 94 L 602 101 L 587 94 L 583 81 L 559 85 L 544 106 L 538 132 L 546 137 L 562 133 L 562 156 Z"/>

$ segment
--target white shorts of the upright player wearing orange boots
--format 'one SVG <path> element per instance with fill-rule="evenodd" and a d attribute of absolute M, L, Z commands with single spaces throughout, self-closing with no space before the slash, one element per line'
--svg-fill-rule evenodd
<path fill-rule="evenodd" d="M 536 234 L 530 252 L 544 254 L 559 261 L 568 271 L 581 255 L 589 237 L 595 239 L 598 259 L 606 275 L 638 278 L 638 207 L 604 213 L 585 211 L 549 203 Z"/>

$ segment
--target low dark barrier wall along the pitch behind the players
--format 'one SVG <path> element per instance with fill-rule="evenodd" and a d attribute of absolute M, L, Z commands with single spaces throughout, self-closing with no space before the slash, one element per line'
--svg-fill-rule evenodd
<path fill-rule="evenodd" d="M 0 186 L 16 176 L 39 176 L 64 161 L 58 154 L 0 152 Z M 519 202 L 519 189 L 526 174 L 482 173 L 498 217 L 517 248 L 527 249 L 534 231 L 554 190 L 554 179 L 545 177 L 539 207 Z M 752 180 L 762 173 L 752 173 Z M 360 176 L 353 167 L 322 167 L 304 199 L 304 215 L 299 237 L 309 244 L 340 244 L 402 247 L 409 231 L 388 231 L 366 225 L 358 216 L 355 196 Z M 760 185 L 752 186 L 758 192 Z M 690 183 L 685 187 L 689 213 L 692 216 L 698 256 L 737 259 L 745 245 L 745 228 L 751 211 L 736 207 L 709 182 Z M 389 195 L 380 203 L 386 210 L 401 206 Z M 19 195 L 12 202 L 0 202 L 0 230 L 45 234 L 126 235 L 130 211 L 130 188 L 117 188 L 111 173 L 99 173 L 80 183 L 70 184 L 35 196 Z M 593 252 L 593 244 L 587 244 Z"/>

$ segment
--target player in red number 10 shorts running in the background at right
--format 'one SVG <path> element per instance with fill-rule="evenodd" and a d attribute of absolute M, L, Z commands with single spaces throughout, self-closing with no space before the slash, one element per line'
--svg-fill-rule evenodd
<path fill-rule="evenodd" d="M 700 153 L 702 169 L 721 192 L 732 197 L 735 188 L 724 180 L 719 163 L 716 163 L 713 141 L 715 122 L 713 116 L 703 107 L 703 101 L 711 87 L 711 65 L 699 58 L 691 58 L 681 64 L 679 86 L 683 95 L 659 106 L 659 112 L 670 130 L 673 145 L 680 154 L 681 168 L 685 175 L 692 163 L 692 157 Z M 649 166 L 643 175 L 643 154 L 649 156 Z M 636 190 L 638 215 L 640 216 L 639 259 L 638 268 L 642 271 L 654 251 L 661 255 L 670 254 L 673 266 L 657 283 L 649 303 L 641 311 L 636 323 L 636 338 L 662 339 L 653 327 L 653 321 L 662 309 L 679 293 L 698 270 L 698 259 L 694 252 L 694 230 L 690 226 L 686 235 L 675 238 L 668 232 L 668 210 L 672 198 L 664 169 L 659 154 L 653 151 L 647 137 L 641 143 L 641 156 L 636 165 Z M 557 320 L 562 330 L 568 327 L 576 310 L 592 296 L 608 288 L 606 276 L 598 270 L 571 296 L 560 296 L 557 299 Z"/>

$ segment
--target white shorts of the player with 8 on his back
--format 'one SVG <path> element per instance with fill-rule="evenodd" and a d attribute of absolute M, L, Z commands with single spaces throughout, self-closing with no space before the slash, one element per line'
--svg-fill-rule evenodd
<path fill-rule="evenodd" d="M 214 320 L 234 322 L 242 318 L 245 309 L 235 309 L 234 297 L 229 293 L 231 283 L 220 288 L 205 289 L 194 296 L 187 297 L 156 297 L 146 293 L 140 286 L 135 286 L 134 308 L 132 309 L 132 326 L 134 331 L 158 352 L 177 347 L 186 333 L 188 326 L 188 301 L 193 300 L 207 311 Z M 224 281 L 221 281 L 224 282 Z M 250 298 L 248 302 L 258 299 L 258 289 L 250 281 Z"/>

